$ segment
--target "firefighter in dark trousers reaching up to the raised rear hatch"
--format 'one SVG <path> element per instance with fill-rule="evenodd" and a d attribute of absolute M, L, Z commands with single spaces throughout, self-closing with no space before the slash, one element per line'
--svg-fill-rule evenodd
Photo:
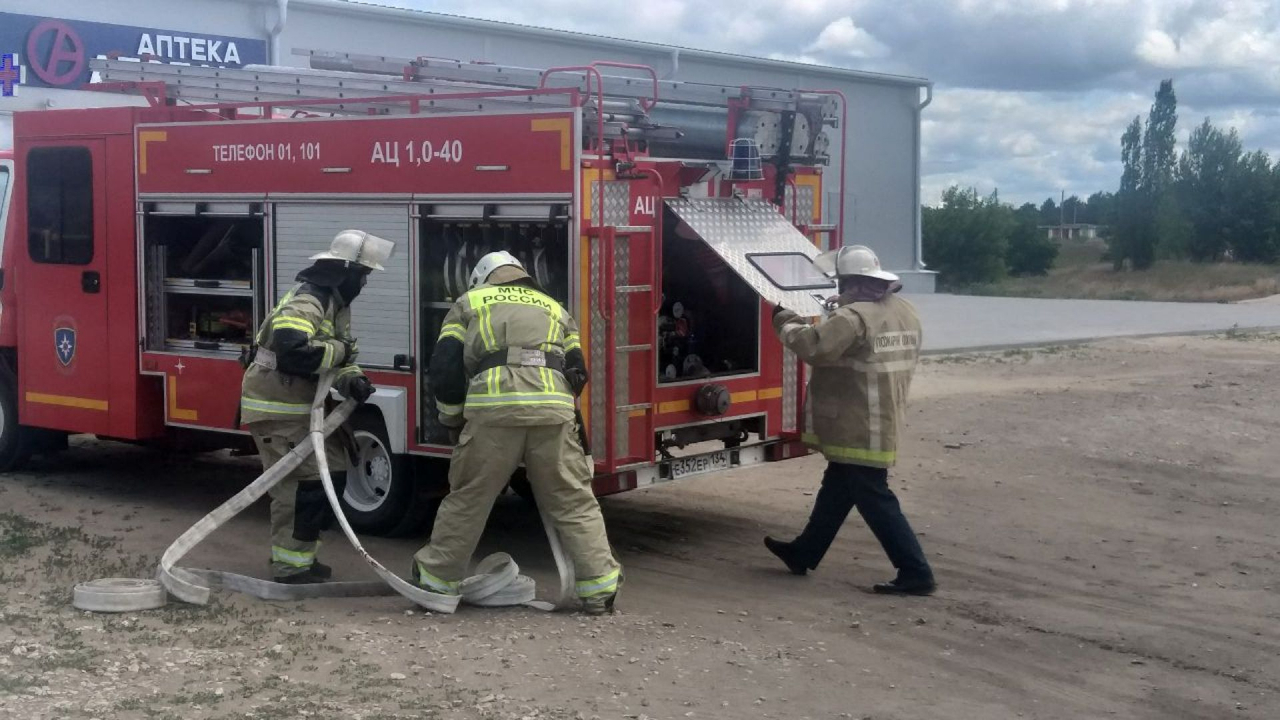
<path fill-rule="evenodd" d="M 872 589 L 931 594 L 933 570 L 888 488 L 919 356 L 920 320 L 911 304 L 895 295 L 902 287 L 897 275 L 882 270 L 870 249 L 842 247 L 814 264 L 838 278 L 835 310 L 810 325 L 777 307 L 773 327 L 782 343 L 813 366 L 804 442 L 823 454 L 827 471 L 800 537 L 764 538 L 764 544 L 804 575 L 818 568 L 849 511 L 858 507 L 897 569 L 893 580 Z"/>

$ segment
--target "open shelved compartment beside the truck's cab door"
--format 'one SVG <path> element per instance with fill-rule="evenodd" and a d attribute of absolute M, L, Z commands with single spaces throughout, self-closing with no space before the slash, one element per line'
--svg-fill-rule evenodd
<path fill-rule="evenodd" d="M 145 202 L 146 347 L 236 355 L 262 319 L 257 202 Z"/>

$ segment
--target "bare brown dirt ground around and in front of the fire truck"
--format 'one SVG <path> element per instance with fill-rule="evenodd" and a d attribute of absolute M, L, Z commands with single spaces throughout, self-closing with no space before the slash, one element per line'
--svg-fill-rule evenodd
<path fill-rule="evenodd" d="M 941 589 L 891 577 L 851 518 L 822 568 L 796 532 L 818 459 L 604 501 L 618 615 L 424 614 L 398 598 L 219 596 L 137 615 L 74 582 L 151 574 L 253 460 L 93 441 L 0 478 L 0 716 L 1280 717 L 1280 336 L 1112 341 L 933 357 L 892 486 Z M 550 587 L 536 515 L 500 502 L 486 548 Z M 265 505 L 189 559 L 261 573 Z M 372 541 L 407 570 L 413 541 Z M 370 574 L 340 536 L 323 551 Z"/>

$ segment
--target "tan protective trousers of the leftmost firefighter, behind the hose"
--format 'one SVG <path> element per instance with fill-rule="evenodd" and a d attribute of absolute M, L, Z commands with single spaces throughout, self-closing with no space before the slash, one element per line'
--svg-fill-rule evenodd
<path fill-rule="evenodd" d="M 296 446 L 306 439 L 310 428 L 308 418 L 288 420 L 259 420 L 248 423 L 253 436 L 262 471 L 275 465 Z M 330 473 L 346 470 L 346 450 L 337 441 L 337 433 L 329 436 L 325 443 Z M 301 492 L 300 492 L 301 489 Z M 320 486 L 320 468 L 316 456 L 308 455 L 292 473 L 276 483 L 268 493 L 271 497 L 271 574 L 276 578 L 306 573 L 315 562 L 316 548 L 320 547 L 317 515 L 328 507 L 324 489 Z M 300 498 L 302 521 L 300 524 Z M 323 503 L 323 505 L 321 505 Z M 316 536 L 316 539 L 298 539 L 296 536 Z"/>

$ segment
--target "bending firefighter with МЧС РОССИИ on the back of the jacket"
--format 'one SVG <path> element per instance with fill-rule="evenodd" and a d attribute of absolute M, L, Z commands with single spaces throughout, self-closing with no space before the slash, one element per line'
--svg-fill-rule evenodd
<path fill-rule="evenodd" d="M 481 258 L 470 287 L 431 354 L 440 423 L 461 434 L 449 495 L 430 542 L 413 557 L 413 579 L 431 592 L 458 593 L 494 500 L 524 462 L 538 506 L 573 562 L 584 609 L 611 612 L 622 569 L 575 425 L 573 401 L 586 386 L 577 323 L 508 252 Z"/>

